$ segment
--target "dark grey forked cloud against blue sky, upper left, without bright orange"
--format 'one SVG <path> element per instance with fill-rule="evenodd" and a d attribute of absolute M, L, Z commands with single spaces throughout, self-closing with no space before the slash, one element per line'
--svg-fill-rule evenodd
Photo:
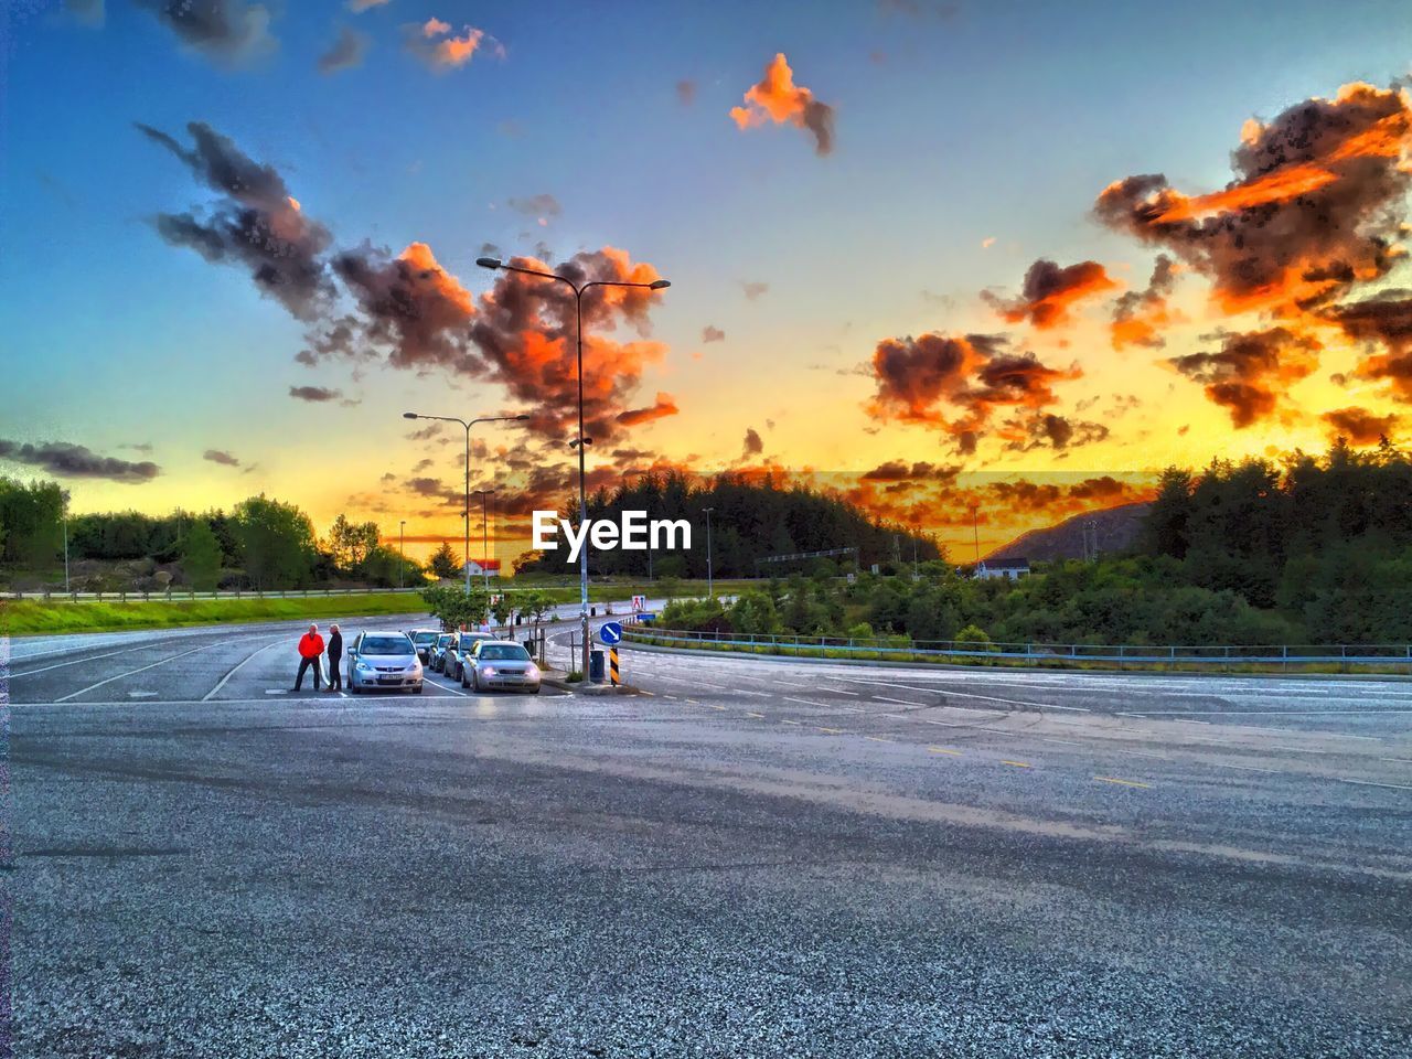
<path fill-rule="evenodd" d="M 330 236 L 304 215 L 284 178 L 273 167 L 251 161 L 202 121 L 186 126 L 189 150 L 167 133 L 137 127 L 220 195 L 205 219 L 160 213 L 157 230 L 162 239 L 191 247 L 208 261 L 244 265 L 263 294 L 277 298 L 299 319 L 313 319 L 333 292 L 321 258 Z"/>

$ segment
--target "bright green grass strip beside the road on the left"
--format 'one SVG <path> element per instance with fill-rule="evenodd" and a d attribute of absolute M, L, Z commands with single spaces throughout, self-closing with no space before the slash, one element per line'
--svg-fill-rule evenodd
<path fill-rule="evenodd" d="M 179 628 L 184 626 L 284 621 L 292 618 L 361 617 L 363 614 L 425 614 L 421 596 L 370 593 L 366 596 L 295 596 L 264 599 L 174 600 L 171 603 L 0 603 L 0 633 L 7 635 L 56 635 L 112 633 L 128 628 Z"/>

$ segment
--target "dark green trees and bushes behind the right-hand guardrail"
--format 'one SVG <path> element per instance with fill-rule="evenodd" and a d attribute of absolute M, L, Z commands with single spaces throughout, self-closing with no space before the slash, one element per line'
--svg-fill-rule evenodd
<path fill-rule="evenodd" d="M 1139 544 L 977 580 L 940 562 L 853 583 L 795 575 L 661 623 L 741 634 L 1015 644 L 1412 642 L 1412 460 L 1382 445 L 1169 467 Z"/>

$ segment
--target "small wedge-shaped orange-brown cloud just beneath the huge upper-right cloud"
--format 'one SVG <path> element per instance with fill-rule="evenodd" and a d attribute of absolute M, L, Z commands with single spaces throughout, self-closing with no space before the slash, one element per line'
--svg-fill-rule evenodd
<path fill-rule="evenodd" d="M 1319 366 L 1316 339 L 1285 328 L 1223 335 L 1211 353 L 1187 353 L 1168 363 L 1206 385 L 1206 397 L 1231 414 L 1236 426 L 1275 415 L 1288 388 Z"/>

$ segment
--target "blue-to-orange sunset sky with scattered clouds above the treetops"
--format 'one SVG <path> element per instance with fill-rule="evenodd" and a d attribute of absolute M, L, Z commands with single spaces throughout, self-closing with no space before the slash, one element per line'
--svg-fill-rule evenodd
<path fill-rule="evenodd" d="M 17 0 L 0 473 L 460 535 L 774 473 L 969 552 L 1399 441 L 1412 7 Z M 513 534 L 505 532 L 505 546 Z"/>

